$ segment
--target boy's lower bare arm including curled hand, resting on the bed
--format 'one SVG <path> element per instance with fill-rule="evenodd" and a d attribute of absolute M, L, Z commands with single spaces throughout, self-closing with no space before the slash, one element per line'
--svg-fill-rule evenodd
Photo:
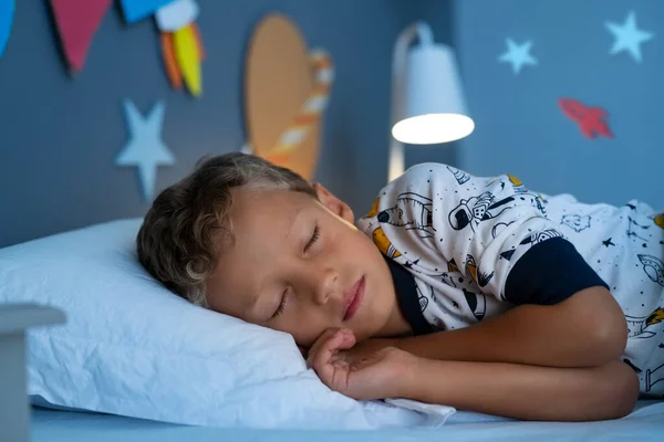
<path fill-rule="evenodd" d="M 359 400 L 406 398 L 525 420 L 585 421 L 627 414 L 639 380 L 618 360 L 592 368 L 421 358 L 394 347 L 357 360 L 350 329 L 328 329 L 308 365 L 331 389 Z"/>

